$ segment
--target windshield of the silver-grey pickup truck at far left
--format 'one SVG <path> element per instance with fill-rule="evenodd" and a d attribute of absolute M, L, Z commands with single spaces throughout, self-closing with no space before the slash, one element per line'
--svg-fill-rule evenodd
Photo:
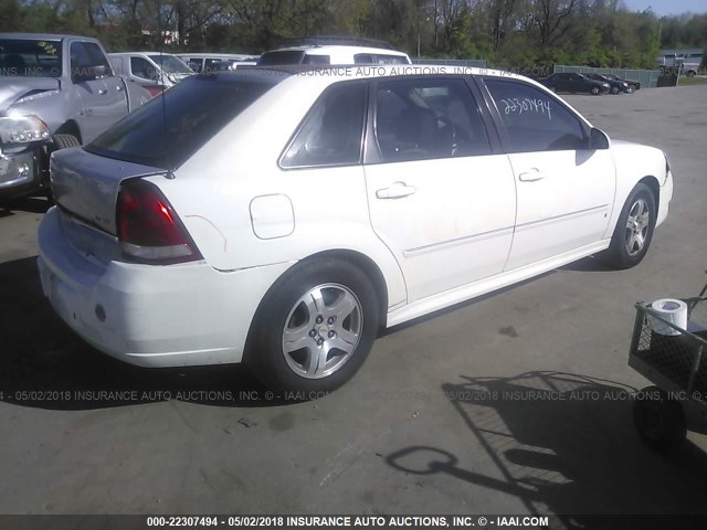
<path fill-rule="evenodd" d="M 0 75 L 60 77 L 62 43 L 32 39 L 0 39 Z"/>

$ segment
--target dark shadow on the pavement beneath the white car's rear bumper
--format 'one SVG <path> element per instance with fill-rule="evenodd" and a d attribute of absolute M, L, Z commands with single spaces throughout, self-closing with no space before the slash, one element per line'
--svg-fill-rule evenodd
<path fill-rule="evenodd" d="M 170 399 L 233 407 L 303 401 L 268 393 L 240 364 L 147 369 L 101 353 L 54 314 L 36 257 L 0 264 L 0 396 L 7 403 L 76 411 Z"/>

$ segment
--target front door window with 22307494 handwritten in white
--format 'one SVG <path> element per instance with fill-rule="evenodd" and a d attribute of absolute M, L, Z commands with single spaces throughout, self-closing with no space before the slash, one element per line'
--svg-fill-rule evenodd
<path fill-rule="evenodd" d="M 587 149 L 580 119 L 558 99 L 515 81 L 486 80 L 506 132 L 508 152 Z"/>

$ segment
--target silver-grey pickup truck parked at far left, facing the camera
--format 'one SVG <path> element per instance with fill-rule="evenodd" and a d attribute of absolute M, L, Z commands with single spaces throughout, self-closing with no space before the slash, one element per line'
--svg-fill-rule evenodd
<path fill-rule="evenodd" d="M 0 33 L 0 199 L 49 187 L 49 155 L 89 142 L 150 98 L 95 39 Z"/>

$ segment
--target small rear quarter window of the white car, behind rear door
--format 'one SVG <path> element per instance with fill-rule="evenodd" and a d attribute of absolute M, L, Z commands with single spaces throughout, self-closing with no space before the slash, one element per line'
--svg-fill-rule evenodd
<path fill-rule="evenodd" d="M 361 159 L 366 83 L 331 86 L 317 99 L 281 160 L 283 168 L 356 165 Z"/>

